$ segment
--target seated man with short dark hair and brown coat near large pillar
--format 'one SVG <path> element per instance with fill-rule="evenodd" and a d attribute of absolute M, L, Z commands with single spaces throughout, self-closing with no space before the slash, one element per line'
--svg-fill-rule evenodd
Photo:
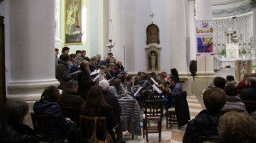
<path fill-rule="evenodd" d="M 81 96 L 77 95 L 79 82 L 70 80 L 67 82 L 67 89 L 62 91 L 61 97 L 57 103 L 61 107 L 75 107 L 80 111 L 80 107 L 84 104 Z"/>

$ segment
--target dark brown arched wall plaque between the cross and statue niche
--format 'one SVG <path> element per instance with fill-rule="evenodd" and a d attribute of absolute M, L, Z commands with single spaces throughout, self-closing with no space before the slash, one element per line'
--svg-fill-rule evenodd
<path fill-rule="evenodd" d="M 147 41 L 146 43 L 160 43 L 159 28 L 153 23 L 147 27 Z"/>

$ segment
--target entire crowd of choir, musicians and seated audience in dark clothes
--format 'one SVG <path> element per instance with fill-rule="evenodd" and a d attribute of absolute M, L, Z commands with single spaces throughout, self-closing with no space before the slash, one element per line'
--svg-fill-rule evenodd
<path fill-rule="evenodd" d="M 177 69 L 160 74 L 137 72 L 136 77 L 128 76 L 121 60 L 112 53 L 102 60 L 101 54 L 86 57 L 86 51 L 77 50 L 69 54 L 69 48 L 61 50 L 60 59 L 55 49 L 55 76 L 58 87 L 44 89 L 41 99 L 36 101 L 33 112 L 49 115 L 52 123 L 50 134 L 55 140 L 70 143 L 81 141 L 78 121 L 65 117 L 62 108 L 73 107 L 79 115 L 106 117 L 106 129 L 112 141 L 124 142 L 123 131 L 141 135 L 140 114 L 143 96 L 156 92 L 154 82 L 162 91 L 165 110 L 177 107 L 177 99 L 183 93 Z M 239 87 L 239 89 L 238 89 Z M 138 90 L 139 89 L 139 90 Z M 60 93 L 61 90 L 61 93 Z M 215 77 L 203 93 L 206 109 L 190 120 L 183 136 L 184 143 L 199 142 L 200 137 L 214 138 L 219 142 L 256 142 L 256 108 L 247 108 L 244 100 L 256 102 L 256 77 L 245 75 L 240 83 L 233 76 Z M 126 101 L 132 104 L 126 103 Z M 132 109 L 132 110 L 131 110 Z M 236 112 L 225 112 L 236 111 Z M 129 120 L 125 115 L 131 115 Z M 0 111 L 0 142 L 40 142 L 43 139 L 26 125 L 28 105 L 26 102 L 8 102 Z M 105 136 L 98 134 L 98 139 Z M 87 137 L 90 138 L 90 137 Z"/>

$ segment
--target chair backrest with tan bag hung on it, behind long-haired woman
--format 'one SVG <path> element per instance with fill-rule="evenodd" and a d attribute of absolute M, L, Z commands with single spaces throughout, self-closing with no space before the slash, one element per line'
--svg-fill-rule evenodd
<path fill-rule="evenodd" d="M 96 133 L 97 136 L 106 136 L 106 117 L 86 117 L 86 116 L 79 116 L 80 122 L 80 140 L 87 142 L 90 140 L 91 135 L 95 128 L 95 119 L 96 119 Z M 101 138 L 99 138 L 101 139 Z M 102 139 L 104 140 L 104 139 Z"/>

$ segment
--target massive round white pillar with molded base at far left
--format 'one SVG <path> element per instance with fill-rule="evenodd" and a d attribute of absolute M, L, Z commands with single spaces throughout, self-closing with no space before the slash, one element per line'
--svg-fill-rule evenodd
<path fill-rule="evenodd" d="M 55 79 L 55 1 L 10 0 L 7 100 L 39 100 Z"/>

